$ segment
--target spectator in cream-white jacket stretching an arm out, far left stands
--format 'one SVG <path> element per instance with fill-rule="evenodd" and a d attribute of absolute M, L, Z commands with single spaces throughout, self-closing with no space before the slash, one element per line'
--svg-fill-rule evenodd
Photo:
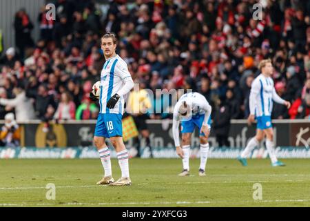
<path fill-rule="evenodd" d="M 28 97 L 25 95 L 25 90 L 21 85 L 13 89 L 15 98 L 13 99 L 0 99 L 0 104 L 15 108 L 15 115 L 18 122 L 35 119 L 34 108 Z"/>

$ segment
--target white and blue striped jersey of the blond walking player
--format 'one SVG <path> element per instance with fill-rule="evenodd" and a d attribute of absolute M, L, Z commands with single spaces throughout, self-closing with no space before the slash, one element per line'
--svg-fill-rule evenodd
<path fill-rule="evenodd" d="M 251 85 L 249 96 L 249 109 L 251 115 L 256 117 L 271 116 L 273 101 L 284 104 L 285 100 L 276 93 L 271 77 L 260 74 Z"/>

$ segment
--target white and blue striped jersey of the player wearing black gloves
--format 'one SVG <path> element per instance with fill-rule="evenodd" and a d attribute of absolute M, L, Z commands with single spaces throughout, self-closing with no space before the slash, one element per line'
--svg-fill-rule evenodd
<path fill-rule="evenodd" d="M 110 57 L 103 64 L 101 70 L 101 93 L 99 97 L 100 112 L 99 113 L 121 113 L 124 112 L 124 97 L 120 95 L 120 99 L 114 108 L 107 108 L 109 99 L 124 86 L 124 79 L 132 77 L 128 70 L 126 62 L 115 55 Z"/>

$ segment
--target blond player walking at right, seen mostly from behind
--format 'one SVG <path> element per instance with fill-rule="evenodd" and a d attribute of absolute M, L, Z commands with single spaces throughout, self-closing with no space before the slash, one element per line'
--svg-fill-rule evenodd
<path fill-rule="evenodd" d="M 277 159 L 276 154 L 274 153 L 271 111 L 273 102 L 283 104 L 287 106 L 287 108 L 289 108 L 291 104 L 279 97 L 276 93 L 271 78 L 273 73 L 271 59 L 260 61 L 258 68 L 260 69 L 261 74 L 254 79 L 251 85 L 251 93 L 249 96 L 250 115 L 247 119 L 249 125 L 255 122 L 255 118 L 257 119 L 256 136 L 249 140 L 245 150 L 242 151 L 241 155 L 238 157 L 238 160 L 243 166 L 247 166 L 246 157 L 266 136 L 266 148 L 271 159 L 271 166 L 285 166 L 285 164 Z"/>

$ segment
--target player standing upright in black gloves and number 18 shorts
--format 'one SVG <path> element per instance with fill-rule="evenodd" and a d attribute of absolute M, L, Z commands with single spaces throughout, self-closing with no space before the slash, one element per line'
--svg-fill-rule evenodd
<path fill-rule="evenodd" d="M 94 133 L 94 144 L 99 151 L 105 175 L 97 184 L 130 185 L 128 152 L 122 137 L 122 116 L 124 110 L 123 96 L 134 87 L 134 81 L 125 61 L 116 55 L 116 37 L 114 34 L 103 35 L 101 49 L 105 56 L 105 64 L 101 71 L 100 112 Z M 90 95 L 94 98 L 92 93 Z M 118 164 L 121 167 L 122 176 L 116 182 L 112 177 L 110 150 L 105 144 L 105 138 L 110 138 L 116 151 Z"/>

